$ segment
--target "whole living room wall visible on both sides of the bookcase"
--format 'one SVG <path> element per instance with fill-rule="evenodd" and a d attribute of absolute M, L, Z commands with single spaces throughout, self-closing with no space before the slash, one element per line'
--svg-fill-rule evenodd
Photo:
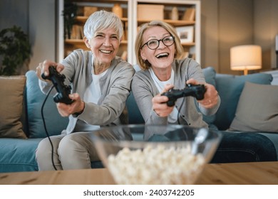
<path fill-rule="evenodd" d="M 276 67 L 274 37 L 278 33 L 277 0 L 201 0 L 201 65 L 217 72 L 241 75 L 230 70 L 230 48 L 262 46 L 263 70 Z M 30 69 L 44 59 L 58 60 L 57 0 L 1 0 L 0 30 L 18 25 L 29 33 L 33 56 Z"/>

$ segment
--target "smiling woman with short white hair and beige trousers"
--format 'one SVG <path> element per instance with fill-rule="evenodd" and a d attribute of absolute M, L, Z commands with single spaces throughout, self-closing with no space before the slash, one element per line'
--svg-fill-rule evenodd
<path fill-rule="evenodd" d="M 61 63 L 45 60 L 36 70 L 44 93 L 52 84 L 41 74 L 47 76 L 51 65 L 66 76 L 65 84 L 72 87 L 72 103 L 57 103 L 61 116 L 69 119 L 68 127 L 61 135 L 51 136 L 51 143 L 46 138 L 38 144 L 36 160 L 40 171 L 91 168 L 91 161 L 99 158 L 88 131 L 128 123 L 125 101 L 135 70 L 116 56 L 123 24 L 115 14 L 97 11 L 86 21 L 84 35 L 83 41 L 90 50 L 74 50 Z"/>

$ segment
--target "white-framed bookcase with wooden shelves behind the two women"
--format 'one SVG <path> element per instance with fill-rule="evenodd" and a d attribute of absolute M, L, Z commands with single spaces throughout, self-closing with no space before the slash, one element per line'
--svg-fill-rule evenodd
<path fill-rule="evenodd" d="M 78 6 L 76 25 L 83 26 L 88 16 L 84 16 L 84 9 L 94 7 L 97 10 L 112 11 L 115 4 L 123 9 L 124 36 L 120 43 L 118 56 L 126 55 L 128 62 L 135 64 L 134 53 L 135 38 L 138 26 L 153 19 L 161 19 L 177 28 L 182 38 L 185 56 L 189 55 L 200 63 L 200 1 L 194 0 L 79 0 L 73 1 Z M 146 11 L 147 9 L 155 9 Z M 174 13 L 175 11 L 175 13 Z M 64 40 L 63 57 L 73 49 L 87 49 L 81 38 L 66 38 Z M 60 52 L 61 53 L 61 52 Z"/>

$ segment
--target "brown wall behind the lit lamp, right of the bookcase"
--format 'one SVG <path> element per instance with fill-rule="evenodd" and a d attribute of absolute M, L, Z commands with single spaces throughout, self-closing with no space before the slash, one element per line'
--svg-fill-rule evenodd
<path fill-rule="evenodd" d="M 201 6 L 203 68 L 212 65 L 217 72 L 242 75 L 230 70 L 230 48 L 245 44 L 261 45 L 262 70 L 276 68 L 278 1 L 204 0 Z"/>

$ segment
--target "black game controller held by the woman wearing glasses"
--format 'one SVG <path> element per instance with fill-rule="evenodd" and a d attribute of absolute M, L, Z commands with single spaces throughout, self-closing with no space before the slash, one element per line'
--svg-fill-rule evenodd
<path fill-rule="evenodd" d="M 192 96 L 196 97 L 197 100 L 204 99 L 205 85 L 187 85 L 182 90 L 171 89 L 168 92 L 163 92 L 161 95 L 165 95 L 169 98 L 167 105 L 173 107 L 175 101 L 180 97 Z"/>

